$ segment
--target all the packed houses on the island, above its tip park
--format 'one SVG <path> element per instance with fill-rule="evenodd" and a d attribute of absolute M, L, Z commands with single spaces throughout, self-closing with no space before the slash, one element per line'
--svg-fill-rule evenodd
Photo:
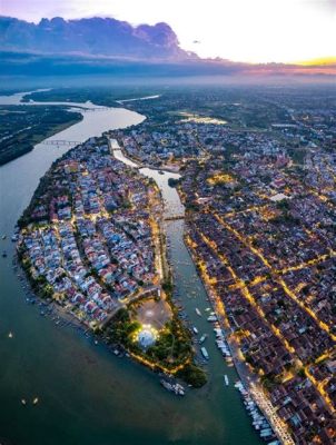
<path fill-rule="evenodd" d="M 53 166 L 18 245 L 42 294 L 92 327 L 158 276 L 148 184 L 98 142 Z"/>

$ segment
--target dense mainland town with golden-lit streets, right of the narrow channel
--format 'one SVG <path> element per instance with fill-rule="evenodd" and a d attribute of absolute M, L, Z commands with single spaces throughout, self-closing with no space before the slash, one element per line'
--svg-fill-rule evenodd
<path fill-rule="evenodd" d="M 167 93 L 137 105 L 151 119 L 115 137 L 145 164 L 188 160 L 178 190 L 189 210 L 186 240 L 202 279 L 224 304 L 245 360 L 295 443 L 332 444 L 335 112 L 320 93 L 267 95 L 268 105 L 251 107 L 259 115 L 254 119 L 245 100 L 234 103 L 227 92 Z M 223 102 L 228 125 L 174 113 L 211 102 L 214 109 Z M 283 121 L 271 123 L 268 116 Z M 267 131 L 249 128 L 258 119 L 269 123 Z"/>

